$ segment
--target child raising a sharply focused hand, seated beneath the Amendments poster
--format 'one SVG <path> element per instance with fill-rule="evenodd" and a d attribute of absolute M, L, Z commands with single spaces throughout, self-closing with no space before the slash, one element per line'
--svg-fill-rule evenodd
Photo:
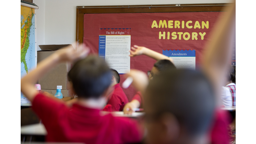
<path fill-rule="evenodd" d="M 135 57 L 138 55 L 146 55 L 148 57 L 151 57 L 157 62 L 152 67 L 151 71 L 148 72 L 148 78 L 152 79 L 154 75 L 157 75 L 160 71 L 167 69 L 167 68 L 174 68 L 176 67 L 173 64 L 173 59 L 160 54 L 158 52 L 155 52 L 153 50 L 150 50 L 146 47 L 137 46 L 134 45 L 131 47 L 133 51 L 130 51 L 130 56 Z M 132 114 L 134 111 L 134 108 L 142 108 L 143 106 L 143 97 L 140 91 L 138 91 L 132 98 L 131 102 L 127 103 L 123 109 L 124 114 Z"/>

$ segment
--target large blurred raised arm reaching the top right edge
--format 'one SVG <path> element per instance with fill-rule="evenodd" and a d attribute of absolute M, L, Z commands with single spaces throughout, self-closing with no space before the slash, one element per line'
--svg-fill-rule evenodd
<path fill-rule="evenodd" d="M 235 1 L 216 23 L 206 45 L 202 69 L 213 82 L 216 90 L 224 84 L 225 71 L 231 60 L 231 38 L 235 34 Z M 217 94 L 219 92 L 217 91 Z"/>

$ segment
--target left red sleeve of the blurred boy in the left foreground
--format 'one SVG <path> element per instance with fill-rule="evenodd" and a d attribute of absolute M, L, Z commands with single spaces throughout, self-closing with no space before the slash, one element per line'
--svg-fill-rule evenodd
<path fill-rule="evenodd" d="M 32 102 L 32 109 L 45 126 L 58 121 L 57 116 L 65 114 L 68 109 L 64 102 L 38 93 Z"/>

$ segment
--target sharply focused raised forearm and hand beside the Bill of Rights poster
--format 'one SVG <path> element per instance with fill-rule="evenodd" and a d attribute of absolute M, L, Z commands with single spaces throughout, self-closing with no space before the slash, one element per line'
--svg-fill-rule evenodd
<path fill-rule="evenodd" d="M 133 47 L 131 47 L 130 53 L 131 53 L 130 57 L 135 57 L 135 56 L 138 56 L 138 55 L 146 55 L 146 56 L 151 57 L 155 60 L 168 59 L 173 63 L 172 58 L 169 58 L 168 56 L 165 56 L 163 54 L 160 54 L 160 53 L 155 52 L 155 51 L 153 51 L 149 48 L 142 47 L 142 46 L 134 45 Z"/>

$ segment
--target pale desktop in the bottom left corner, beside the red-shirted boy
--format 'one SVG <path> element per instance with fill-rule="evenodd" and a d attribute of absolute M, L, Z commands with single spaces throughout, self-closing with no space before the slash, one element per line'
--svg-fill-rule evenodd
<path fill-rule="evenodd" d="M 47 135 L 47 131 L 43 124 L 32 124 L 20 127 L 21 135 Z"/>

